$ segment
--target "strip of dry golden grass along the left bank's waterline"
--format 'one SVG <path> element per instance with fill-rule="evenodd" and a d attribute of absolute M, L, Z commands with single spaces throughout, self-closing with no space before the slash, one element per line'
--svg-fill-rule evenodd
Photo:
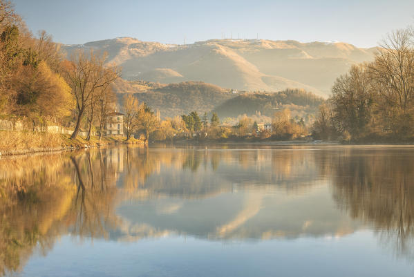
<path fill-rule="evenodd" d="M 122 137 L 92 136 L 91 140 L 70 135 L 31 131 L 0 131 L 0 155 L 23 155 L 28 153 L 66 151 L 100 147 L 111 144 L 144 144 L 142 140 L 124 140 Z"/>

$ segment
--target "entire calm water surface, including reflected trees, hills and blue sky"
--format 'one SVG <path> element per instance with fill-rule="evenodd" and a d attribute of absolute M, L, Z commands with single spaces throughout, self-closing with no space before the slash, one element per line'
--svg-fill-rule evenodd
<path fill-rule="evenodd" d="M 414 147 L 0 159 L 0 276 L 414 276 Z"/>

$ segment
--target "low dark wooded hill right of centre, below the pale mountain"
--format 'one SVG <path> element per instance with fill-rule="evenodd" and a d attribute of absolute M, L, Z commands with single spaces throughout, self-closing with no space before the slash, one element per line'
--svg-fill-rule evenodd
<path fill-rule="evenodd" d="M 274 112 L 289 108 L 293 115 L 305 117 L 317 112 L 323 98 L 300 89 L 288 89 L 277 93 L 243 93 L 216 106 L 218 117 L 261 115 L 272 117 Z"/>

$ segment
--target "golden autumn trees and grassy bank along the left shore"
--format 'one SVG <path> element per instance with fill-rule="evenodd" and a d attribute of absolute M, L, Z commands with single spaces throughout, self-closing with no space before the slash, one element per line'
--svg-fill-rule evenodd
<path fill-rule="evenodd" d="M 106 136 L 111 115 L 119 110 L 112 85 L 121 72 L 106 57 L 93 50 L 67 56 L 45 31 L 32 35 L 12 3 L 0 0 L 0 152 L 123 142 Z M 144 120 L 153 117 L 145 106 L 138 127 L 145 129 Z"/>

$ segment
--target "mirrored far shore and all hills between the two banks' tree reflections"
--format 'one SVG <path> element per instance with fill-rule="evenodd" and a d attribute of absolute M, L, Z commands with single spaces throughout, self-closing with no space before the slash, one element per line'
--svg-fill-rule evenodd
<path fill-rule="evenodd" d="M 160 156 L 158 171 L 119 208 L 128 222 L 120 239 L 146 237 L 142 226 L 220 239 L 341 236 L 357 228 L 335 209 L 329 191 L 317 189 L 326 179 L 309 149 L 149 149 L 138 157 L 156 164 Z"/>

